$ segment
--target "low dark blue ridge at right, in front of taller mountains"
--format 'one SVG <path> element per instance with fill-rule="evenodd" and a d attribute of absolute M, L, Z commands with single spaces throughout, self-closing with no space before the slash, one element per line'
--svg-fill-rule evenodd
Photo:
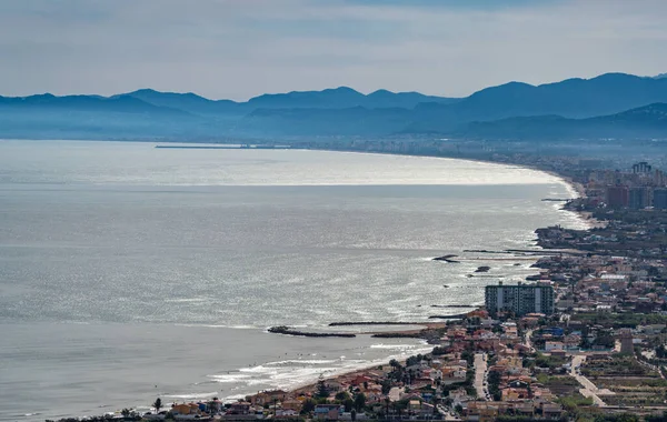
<path fill-rule="evenodd" d="M 667 138 L 667 103 L 654 103 L 610 115 L 568 119 L 560 115 L 472 122 L 454 134 L 482 139 Z"/>

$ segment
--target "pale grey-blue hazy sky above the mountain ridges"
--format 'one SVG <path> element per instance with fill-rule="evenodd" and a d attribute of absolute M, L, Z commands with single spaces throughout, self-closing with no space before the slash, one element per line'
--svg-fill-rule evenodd
<path fill-rule="evenodd" d="M 0 94 L 464 97 L 667 72 L 665 0 L 1 0 Z"/>

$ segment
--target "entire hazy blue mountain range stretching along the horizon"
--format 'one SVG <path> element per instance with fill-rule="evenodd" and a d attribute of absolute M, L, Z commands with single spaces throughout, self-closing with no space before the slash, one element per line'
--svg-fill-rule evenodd
<path fill-rule="evenodd" d="M 667 78 L 606 73 L 466 98 L 340 87 L 246 102 L 142 89 L 0 97 L 1 138 L 290 139 L 444 134 L 485 139 L 667 138 Z"/>

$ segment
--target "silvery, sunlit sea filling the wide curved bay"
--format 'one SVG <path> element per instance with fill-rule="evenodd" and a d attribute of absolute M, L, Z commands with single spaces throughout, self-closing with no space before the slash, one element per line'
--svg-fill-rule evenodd
<path fill-rule="evenodd" d="M 542 201 L 570 185 L 519 167 L 156 145 L 0 141 L 0 421 L 233 401 L 425 352 L 365 326 L 267 329 L 459 313 L 536 273 L 466 250 L 586 228 Z"/>

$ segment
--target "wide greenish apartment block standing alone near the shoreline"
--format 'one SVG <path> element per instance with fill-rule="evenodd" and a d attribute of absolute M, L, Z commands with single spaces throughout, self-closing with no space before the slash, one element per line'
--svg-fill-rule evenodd
<path fill-rule="evenodd" d="M 554 313 L 554 288 L 550 285 L 522 284 L 487 285 L 485 290 L 487 311 L 511 311 L 517 316 L 527 313 Z"/>

